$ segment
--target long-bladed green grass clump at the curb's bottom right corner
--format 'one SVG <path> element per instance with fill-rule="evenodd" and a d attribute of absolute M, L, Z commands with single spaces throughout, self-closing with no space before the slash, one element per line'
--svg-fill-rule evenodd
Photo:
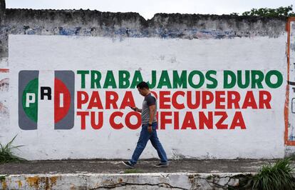
<path fill-rule="evenodd" d="M 291 158 L 281 159 L 275 164 L 262 166 L 259 173 L 253 176 L 253 189 L 283 190 L 295 189 L 294 179 L 291 175 Z"/>

